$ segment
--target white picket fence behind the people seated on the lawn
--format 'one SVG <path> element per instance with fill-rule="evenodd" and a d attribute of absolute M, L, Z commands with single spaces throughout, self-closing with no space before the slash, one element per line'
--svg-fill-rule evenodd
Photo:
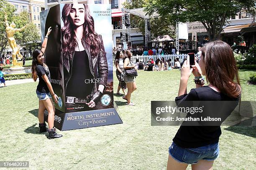
<path fill-rule="evenodd" d="M 187 54 L 172 54 L 172 55 L 137 55 L 134 57 L 131 57 L 133 63 L 136 63 L 136 58 L 138 60 L 143 60 L 144 65 L 147 64 L 148 60 L 153 58 L 154 61 L 157 60 L 157 58 L 159 58 L 161 60 L 161 58 L 164 57 L 164 61 L 167 61 L 169 59 L 172 59 L 172 65 L 174 65 L 174 59 L 179 58 L 179 62 L 182 62 L 184 58 L 187 58 Z"/>

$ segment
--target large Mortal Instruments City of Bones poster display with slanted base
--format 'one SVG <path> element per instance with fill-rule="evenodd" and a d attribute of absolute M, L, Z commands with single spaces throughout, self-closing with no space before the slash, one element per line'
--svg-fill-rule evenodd
<path fill-rule="evenodd" d="M 123 123 L 113 101 L 111 6 L 59 4 L 40 16 L 42 42 L 51 27 L 45 62 L 59 97 L 54 126 L 72 130 Z"/>

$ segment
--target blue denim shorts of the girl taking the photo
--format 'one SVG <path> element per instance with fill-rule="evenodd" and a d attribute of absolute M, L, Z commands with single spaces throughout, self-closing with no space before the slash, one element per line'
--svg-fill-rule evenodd
<path fill-rule="evenodd" d="M 179 163 L 195 164 L 198 160 L 213 161 L 219 156 L 219 143 L 199 148 L 181 148 L 175 143 L 169 147 L 169 155 Z"/>

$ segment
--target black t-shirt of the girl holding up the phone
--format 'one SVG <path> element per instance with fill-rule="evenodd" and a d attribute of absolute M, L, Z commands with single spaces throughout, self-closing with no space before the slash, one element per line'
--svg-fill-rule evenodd
<path fill-rule="evenodd" d="M 228 107 L 228 112 L 230 114 L 238 105 L 239 98 L 231 98 L 227 95 L 224 95 L 223 93 L 216 92 L 209 86 L 203 86 L 192 89 L 188 94 L 176 97 L 175 101 L 177 105 L 182 105 L 182 102 L 184 103 L 184 101 L 235 101 L 232 102 L 232 106 Z M 208 110 L 216 111 L 216 105 L 212 104 L 210 107 L 211 108 L 208 108 Z M 215 112 L 214 114 L 222 113 Z M 188 113 L 187 116 L 188 115 L 191 114 Z M 175 137 L 173 138 L 173 141 L 175 144 L 182 148 L 198 148 L 201 146 L 217 143 L 219 141 L 220 135 L 220 126 L 180 126 Z"/>

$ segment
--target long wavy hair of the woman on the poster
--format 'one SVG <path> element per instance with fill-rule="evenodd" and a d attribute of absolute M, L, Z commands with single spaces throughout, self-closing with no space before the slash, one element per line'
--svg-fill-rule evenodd
<path fill-rule="evenodd" d="M 94 30 L 94 20 L 90 15 L 88 5 L 84 5 L 84 29 L 82 38 L 85 39 L 86 43 L 90 46 L 90 53 L 92 57 L 96 57 L 99 52 L 105 53 L 104 45 L 101 42 L 100 35 Z M 62 36 L 62 49 L 63 55 L 67 59 L 72 58 L 72 53 L 75 51 L 75 47 L 78 45 L 75 38 L 74 25 L 70 22 L 70 10 L 73 4 L 65 4 L 62 10 L 62 17 L 64 27 L 61 28 Z"/>

